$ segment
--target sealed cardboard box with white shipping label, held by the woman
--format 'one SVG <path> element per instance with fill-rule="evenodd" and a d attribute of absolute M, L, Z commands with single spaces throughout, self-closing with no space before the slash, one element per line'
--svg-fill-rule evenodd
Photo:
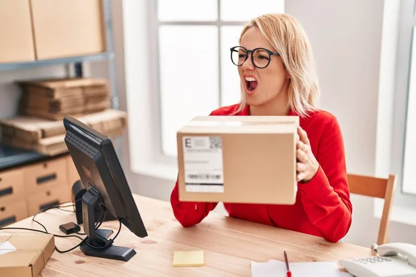
<path fill-rule="evenodd" d="M 180 201 L 294 204 L 297 116 L 198 116 L 177 132 Z"/>

